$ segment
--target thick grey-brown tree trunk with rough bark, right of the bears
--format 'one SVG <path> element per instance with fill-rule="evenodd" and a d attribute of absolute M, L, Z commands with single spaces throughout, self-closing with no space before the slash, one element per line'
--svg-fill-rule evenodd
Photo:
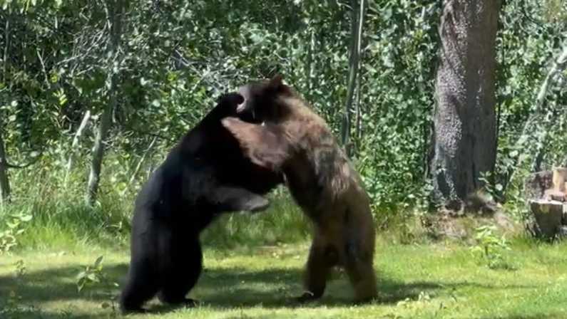
<path fill-rule="evenodd" d="M 496 160 L 495 65 L 500 1 L 444 0 L 436 75 L 434 197 L 459 209 Z"/>

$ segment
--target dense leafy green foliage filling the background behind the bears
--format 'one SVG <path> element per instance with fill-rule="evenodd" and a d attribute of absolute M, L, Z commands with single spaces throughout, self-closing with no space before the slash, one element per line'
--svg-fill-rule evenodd
<path fill-rule="evenodd" d="M 131 1 L 123 17 L 121 61 L 116 62 L 106 54 L 108 1 L 3 1 L 0 130 L 11 164 L 36 160 L 25 169 L 9 169 L 14 205 L 34 203 L 37 208 L 53 198 L 48 208 L 39 209 L 49 214 L 34 212 L 41 216 L 38 222 L 64 224 L 62 216 L 71 214 L 78 217 L 73 220 L 96 219 L 111 234 L 121 233 L 131 199 L 148 173 L 215 98 L 275 72 L 338 136 L 347 94 L 351 5 L 345 0 Z M 441 1 L 369 1 L 352 160 L 377 219 L 387 221 L 399 211 L 424 210 L 429 204 L 440 13 Z M 489 192 L 507 201 L 506 209 L 514 214 L 522 209 L 523 177 L 567 160 L 564 69 L 536 108 L 539 88 L 567 45 L 566 16 L 565 2 L 559 0 L 505 1 L 501 9 L 499 145 L 496 167 L 486 181 Z M 69 213 L 59 203 L 81 198 L 94 129 L 109 102 L 109 74 L 118 77 L 119 95 L 106 142 L 101 198 L 94 214 L 76 205 L 76 212 Z M 87 111 L 93 117 L 73 148 L 73 135 Z M 77 164 L 67 172 L 71 156 Z M 28 190 L 31 181 L 35 194 Z M 101 215 L 106 203 L 118 200 L 127 204 Z M 55 217 L 47 217 L 53 211 Z"/>

